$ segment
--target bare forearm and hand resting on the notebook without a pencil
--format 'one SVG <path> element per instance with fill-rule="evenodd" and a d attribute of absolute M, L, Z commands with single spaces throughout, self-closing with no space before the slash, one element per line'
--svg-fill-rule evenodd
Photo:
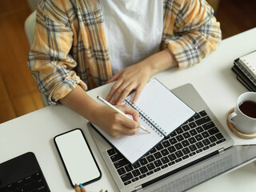
<path fill-rule="evenodd" d="M 106 96 L 106 101 L 111 101 L 113 105 L 120 105 L 130 94 L 130 91 L 136 90 L 133 103 L 137 102 L 139 94 L 141 94 L 146 82 L 153 74 L 177 65 L 174 55 L 166 48 L 156 54 L 152 54 L 142 62 L 126 67 L 108 81 L 117 82 L 114 83 L 110 93 Z"/>

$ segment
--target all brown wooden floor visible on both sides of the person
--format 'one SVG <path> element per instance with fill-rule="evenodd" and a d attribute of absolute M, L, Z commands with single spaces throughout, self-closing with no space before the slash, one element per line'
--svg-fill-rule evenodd
<path fill-rule="evenodd" d="M 255 0 L 221 0 L 217 19 L 223 38 L 256 27 L 255 10 Z M 0 0 L 0 123 L 43 107 L 26 64 L 30 47 L 24 22 L 29 14 L 26 0 Z"/>

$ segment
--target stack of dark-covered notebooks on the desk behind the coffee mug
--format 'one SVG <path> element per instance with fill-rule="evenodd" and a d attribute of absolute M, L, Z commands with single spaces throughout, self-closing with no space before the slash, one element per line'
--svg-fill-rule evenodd
<path fill-rule="evenodd" d="M 256 92 L 256 50 L 234 60 L 231 70 L 248 90 Z"/>

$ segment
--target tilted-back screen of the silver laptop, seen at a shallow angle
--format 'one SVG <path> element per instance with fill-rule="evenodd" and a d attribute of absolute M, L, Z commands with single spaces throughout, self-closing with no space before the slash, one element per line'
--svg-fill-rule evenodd
<path fill-rule="evenodd" d="M 146 191 L 184 191 L 256 159 L 256 146 L 233 146 L 144 188 Z"/>

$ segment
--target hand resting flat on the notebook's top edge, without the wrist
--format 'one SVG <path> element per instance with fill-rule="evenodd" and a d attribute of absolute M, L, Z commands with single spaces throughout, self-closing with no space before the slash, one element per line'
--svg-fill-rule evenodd
<path fill-rule="evenodd" d="M 128 94 L 130 94 L 130 91 L 136 90 L 133 100 L 133 103 L 135 103 L 142 89 L 146 86 L 146 82 L 150 79 L 150 76 L 150 66 L 145 65 L 144 62 L 138 62 L 133 66 L 126 67 L 107 82 L 117 81 L 112 86 L 110 93 L 106 96 L 106 101 L 111 101 L 113 105 L 120 105 Z"/>

